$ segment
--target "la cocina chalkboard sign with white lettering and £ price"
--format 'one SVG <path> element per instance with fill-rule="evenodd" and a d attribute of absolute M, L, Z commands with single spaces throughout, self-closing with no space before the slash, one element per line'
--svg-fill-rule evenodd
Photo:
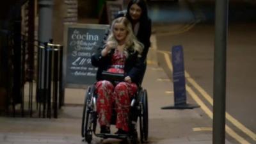
<path fill-rule="evenodd" d="M 65 24 L 63 81 L 65 87 L 85 88 L 96 81 L 97 68 L 91 56 L 103 43 L 109 26 L 102 24 Z"/>

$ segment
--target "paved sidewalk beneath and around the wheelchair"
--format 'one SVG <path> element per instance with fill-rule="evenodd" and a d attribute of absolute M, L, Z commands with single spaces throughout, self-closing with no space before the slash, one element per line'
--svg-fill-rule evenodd
<path fill-rule="evenodd" d="M 152 35 L 152 41 L 156 40 Z M 148 53 L 143 88 L 148 92 L 148 143 L 210 144 L 212 121 L 200 108 L 161 109 L 173 106 L 173 82 L 157 64 L 157 44 Z M 65 90 L 65 106 L 59 118 L 0 117 L 1 144 L 84 144 L 81 137 L 83 101 L 86 90 Z M 122 143 L 93 136 L 92 143 Z M 226 143 L 230 142 L 226 140 Z"/>

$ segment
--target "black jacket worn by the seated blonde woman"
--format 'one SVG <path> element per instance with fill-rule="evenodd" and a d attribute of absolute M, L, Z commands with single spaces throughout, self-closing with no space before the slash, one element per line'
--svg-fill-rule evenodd
<path fill-rule="evenodd" d="M 97 53 L 92 56 L 92 65 L 98 67 L 97 81 L 102 80 L 102 71 L 108 70 L 111 65 L 111 57 L 115 50 L 113 49 L 106 56 L 101 55 L 102 48 L 99 48 Z M 130 76 L 132 83 L 140 84 L 140 79 L 142 77 L 143 63 L 141 63 L 140 58 L 138 58 L 138 52 L 129 51 L 129 56 L 125 60 L 125 76 Z"/>

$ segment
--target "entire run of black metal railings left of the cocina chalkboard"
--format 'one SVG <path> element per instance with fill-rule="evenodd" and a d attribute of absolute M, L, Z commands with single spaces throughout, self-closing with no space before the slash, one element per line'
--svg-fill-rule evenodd
<path fill-rule="evenodd" d="M 52 40 L 44 43 L 38 40 L 29 42 L 28 36 L 15 36 L 10 31 L 1 36 L 7 39 L 5 45 L 8 47 L 5 56 L 8 58 L 8 62 L 5 62 L 8 63 L 6 115 L 58 118 L 58 109 L 64 102 L 63 46 L 52 44 Z M 31 54 L 28 48 L 31 45 L 37 50 L 33 49 L 33 58 L 28 56 Z"/>

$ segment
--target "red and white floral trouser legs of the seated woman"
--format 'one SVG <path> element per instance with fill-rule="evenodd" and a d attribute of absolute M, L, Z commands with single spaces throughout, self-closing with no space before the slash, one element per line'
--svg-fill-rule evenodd
<path fill-rule="evenodd" d="M 116 128 L 129 131 L 131 97 L 137 92 L 135 83 L 121 82 L 113 86 L 109 81 L 98 81 L 95 85 L 97 113 L 100 125 L 110 125 L 113 106 L 116 109 Z"/>

